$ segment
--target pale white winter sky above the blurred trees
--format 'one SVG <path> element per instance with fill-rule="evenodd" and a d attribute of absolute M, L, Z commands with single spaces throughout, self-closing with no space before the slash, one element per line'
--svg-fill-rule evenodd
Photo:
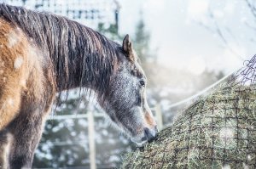
<path fill-rule="evenodd" d="M 134 34 L 143 11 L 160 64 L 200 75 L 239 69 L 256 54 L 255 19 L 241 0 L 119 0 L 120 31 Z M 209 12 L 211 11 L 211 12 Z M 214 16 L 212 20 L 209 14 Z M 200 25 L 203 23 L 207 28 Z M 218 35 L 222 32 L 224 40 Z"/>

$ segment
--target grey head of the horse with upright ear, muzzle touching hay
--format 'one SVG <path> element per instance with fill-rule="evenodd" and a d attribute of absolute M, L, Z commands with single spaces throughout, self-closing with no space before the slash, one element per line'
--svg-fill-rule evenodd
<path fill-rule="evenodd" d="M 102 107 L 113 123 L 131 137 L 131 141 L 142 145 L 156 136 L 157 128 L 146 99 L 147 78 L 128 35 L 119 50 L 119 59 Z"/>

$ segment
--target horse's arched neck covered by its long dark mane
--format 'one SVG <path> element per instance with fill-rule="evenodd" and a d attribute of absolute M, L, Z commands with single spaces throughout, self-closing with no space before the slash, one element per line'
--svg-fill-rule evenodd
<path fill-rule="evenodd" d="M 93 87 L 97 93 L 108 88 L 109 76 L 119 63 L 119 44 L 97 31 L 55 14 L 35 12 L 0 4 L 0 18 L 25 32 L 54 67 L 57 89 Z"/>

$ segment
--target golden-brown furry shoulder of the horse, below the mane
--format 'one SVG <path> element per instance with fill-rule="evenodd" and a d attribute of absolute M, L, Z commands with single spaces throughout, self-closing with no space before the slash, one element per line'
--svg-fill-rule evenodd
<path fill-rule="evenodd" d="M 42 58 L 19 27 L 0 18 L 0 130 L 24 106 L 44 99 Z"/>

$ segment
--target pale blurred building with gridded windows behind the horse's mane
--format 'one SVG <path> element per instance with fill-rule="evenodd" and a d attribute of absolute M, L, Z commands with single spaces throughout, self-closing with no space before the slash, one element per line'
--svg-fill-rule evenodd
<path fill-rule="evenodd" d="M 119 26 L 119 3 L 116 0 L 0 0 L 15 6 L 47 11 L 96 29 L 99 23 Z"/>

